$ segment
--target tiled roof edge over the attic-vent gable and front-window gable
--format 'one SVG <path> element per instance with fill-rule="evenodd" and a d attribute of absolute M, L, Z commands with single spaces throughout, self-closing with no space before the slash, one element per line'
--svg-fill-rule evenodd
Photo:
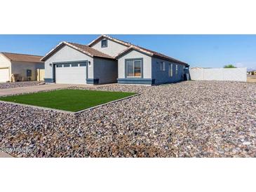
<path fill-rule="evenodd" d="M 187 64 L 187 63 L 185 63 L 185 62 L 182 62 L 182 61 L 180 61 L 180 60 L 176 60 L 176 59 L 174 59 L 173 57 L 169 57 L 169 56 L 167 56 L 167 55 L 163 55 L 163 54 L 158 53 L 158 52 L 156 52 L 156 51 L 154 51 L 154 50 L 149 50 L 149 49 L 147 49 L 147 48 L 142 48 L 142 47 L 140 47 L 140 46 L 135 46 L 135 45 L 133 45 L 133 44 L 131 44 L 131 43 L 128 43 L 128 42 L 126 42 L 126 41 L 121 41 L 121 40 L 119 40 L 119 39 L 115 39 L 115 38 L 113 38 L 113 37 L 111 37 L 111 36 L 108 36 L 108 35 L 105 35 L 105 34 L 99 36 L 97 39 L 95 39 L 94 41 L 90 42 L 90 43 L 88 44 L 88 46 L 93 46 L 95 43 L 97 43 L 97 42 L 100 41 L 101 39 L 109 39 L 109 40 L 112 40 L 112 41 L 114 41 L 114 42 L 116 42 L 116 43 L 121 43 L 123 46 L 127 46 L 127 49 L 126 49 L 126 50 L 123 50 L 121 53 L 119 53 L 119 55 L 116 55 L 116 58 L 118 58 L 118 57 L 120 57 L 121 55 L 127 53 L 129 50 L 138 50 L 138 51 L 140 51 L 140 52 L 142 52 L 142 53 L 145 53 L 145 54 L 147 54 L 147 55 L 150 55 L 151 57 L 159 57 L 159 58 L 162 58 L 162 59 L 164 59 L 164 60 L 169 60 L 169 61 L 171 61 L 171 62 L 176 62 L 176 63 L 184 64 L 185 66 L 189 66 L 189 64 Z"/>

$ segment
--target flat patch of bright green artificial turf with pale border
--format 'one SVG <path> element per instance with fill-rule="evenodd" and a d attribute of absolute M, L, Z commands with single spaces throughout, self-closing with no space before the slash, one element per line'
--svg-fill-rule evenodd
<path fill-rule="evenodd" d="M 0 97 L 0 100 L 75 112 L 130 95 L 135 93 L 67 89 Z"/>

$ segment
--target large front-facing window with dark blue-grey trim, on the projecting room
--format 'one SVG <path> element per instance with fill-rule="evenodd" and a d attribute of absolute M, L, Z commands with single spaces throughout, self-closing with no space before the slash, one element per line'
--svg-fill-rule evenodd
<path fill-rule="evenodd" d="M 127 60 L 126 61 L 126 76 L 127 77 L 142 77 L 142 60 Z"/>

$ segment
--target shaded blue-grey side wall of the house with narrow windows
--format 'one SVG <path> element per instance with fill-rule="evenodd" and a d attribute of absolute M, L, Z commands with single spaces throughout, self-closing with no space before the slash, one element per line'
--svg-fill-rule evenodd
<path fill-rule="evenodd" d="M 161 71 L 161 62 L 166 63 L 166 71 Z M 173 76 L 169 76 L 169 64 L 173 64 Z M 175 83 L 183 81 L 184 79 L 184 65 L 177 64 L 177 75 L 175 74 L 176 70 L 175 62 L 170 62 L 167 60 L 162 60 L 156 57 L 152 57 L 152 78 L 155 79 L 156 84 L 163 83 Z"/>

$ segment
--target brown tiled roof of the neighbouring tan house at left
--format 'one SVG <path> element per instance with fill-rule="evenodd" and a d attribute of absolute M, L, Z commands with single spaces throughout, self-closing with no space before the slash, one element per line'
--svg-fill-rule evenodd
<path fill-rule="evenodd" d="M 43 57 L 39 55 L 27 55 L 21 53 L 1 52 L 1 54 L 4 55 L 8 60 L 14 62 L 41 62 L 41 58 Z"/>

